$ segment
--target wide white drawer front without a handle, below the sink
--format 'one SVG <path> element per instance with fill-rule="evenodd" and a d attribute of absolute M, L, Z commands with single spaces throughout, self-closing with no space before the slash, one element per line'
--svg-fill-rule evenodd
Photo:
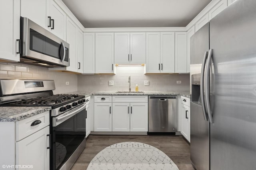
<path fill-rule="evenodd" d="M 113 102 L 148 103 L 148 96 L 113 96 Z"/>

